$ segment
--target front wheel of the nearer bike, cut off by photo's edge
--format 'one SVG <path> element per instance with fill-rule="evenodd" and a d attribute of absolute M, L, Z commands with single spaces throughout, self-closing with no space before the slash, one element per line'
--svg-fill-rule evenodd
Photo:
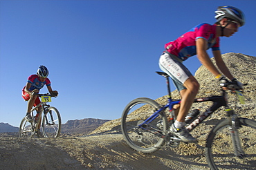
<path fill-rule="evenodd" d="M 211 169 L 256 169 L 256 122 L 238 118 L 237 124 L 241 125 L 238 133 L 230 126 L 230 120 L 220 122 L 210 132 L 205 155 Z M 237 140 L 232 138 L 234 134 L 239 137 Z"/>

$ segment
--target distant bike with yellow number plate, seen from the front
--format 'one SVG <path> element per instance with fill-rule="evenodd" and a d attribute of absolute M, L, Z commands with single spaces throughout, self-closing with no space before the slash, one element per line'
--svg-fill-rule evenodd
<path fill-rule="evenodd" d="M 41 97 L 41 103 L 31 109 L 32 122 L 28 122 L 25 117 L 21 120 L 19 126 L 19 138 L 41 137 L 41 132 L 37 131 L 42 122 L 42 132 L 45 138 L 57 138 L 60 135 L 62 125 L 60 113 L 57 108 L 50 106 L 47 102 L 51 102 L 51 97 L 55 95 L 36 94 Z M 37 115 L 36 109 L 40 108 Z"/>

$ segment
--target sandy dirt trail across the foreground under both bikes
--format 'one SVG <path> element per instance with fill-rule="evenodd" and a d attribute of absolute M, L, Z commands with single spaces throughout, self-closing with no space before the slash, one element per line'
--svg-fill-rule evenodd
<path fill-rule="evenodd" d="M 0 146 L 0 169 L 208 169 L 203 155 L 187 154 L 188 147 L 183 146 L 183 153 L 170 147 L 138 153 L 120 133 L 57 139 L 1 137 Z"/>

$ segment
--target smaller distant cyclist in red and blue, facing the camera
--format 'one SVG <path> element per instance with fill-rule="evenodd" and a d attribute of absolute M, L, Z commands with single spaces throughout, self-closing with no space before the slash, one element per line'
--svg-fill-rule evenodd
<path fill-rule="evenodd" d="M 52 90 L 50 79 L 47 78 L 48 74 L 49 72 L 46 66 L 39 66 L 37 75 L 30 75 L 30 77 L 28 77 L 26 86 L 24 86 L 22 89 L 22 97 L 24 100 L 28 101 L 28 108 L 26 113 L 26 120 L 28 122 L 33 121 L 33 118 L 30 114 L 32 107 L 37 106 L 37 104 L 40 103 L 39 97 L 35 94 L 39 93 L 39 90 L 43 88 L 44 85 L 47 86 L 49 93 L 54 94 L 55 96 L 58 94 L 57 91 Z M 39 113 L 39 110 L 40 108 L 37 109 L 37 114 Z M 38 131 L 40 131 L 40 129 L 38 129 Z"/>

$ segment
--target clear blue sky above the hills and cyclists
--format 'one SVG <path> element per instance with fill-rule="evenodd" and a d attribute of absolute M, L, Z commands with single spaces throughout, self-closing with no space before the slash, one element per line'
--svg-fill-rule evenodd
<path fill-rule="evenodd" d="M 246 24 L 221 38 L 221 53 L 256 56 L 256 1 L 0 1 L 0 122 L 19 126 L 27 107 L 21 89 L 39 65 L 59 91 L 51 105 L 62 123 L 117 119 L 137 97 L 166 95 L 154 73 L 164 44 L 214 23 L 226 5 L 244 11 Z M 184 64 L 193 74 L 201 66 L 196 57 Z"/>

